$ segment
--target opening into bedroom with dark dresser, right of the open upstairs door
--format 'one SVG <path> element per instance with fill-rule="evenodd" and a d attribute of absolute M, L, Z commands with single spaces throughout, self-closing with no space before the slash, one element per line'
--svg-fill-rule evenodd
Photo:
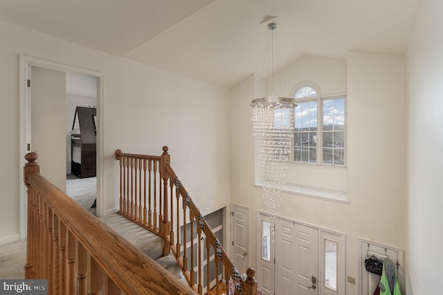
<path fill-rule="evenodd" d="M 96 215 L 96 77 L 66 73 L 66 195 Z"/>

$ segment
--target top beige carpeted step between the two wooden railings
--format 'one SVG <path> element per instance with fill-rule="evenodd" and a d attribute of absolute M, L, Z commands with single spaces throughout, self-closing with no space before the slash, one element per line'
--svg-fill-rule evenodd
<path fill-rule="evenodd" d="M 157 260 L 163 256 L 163 239 L 155 233 L 118 213 L 100 217 L 100 220 L 150 258 Z"/>

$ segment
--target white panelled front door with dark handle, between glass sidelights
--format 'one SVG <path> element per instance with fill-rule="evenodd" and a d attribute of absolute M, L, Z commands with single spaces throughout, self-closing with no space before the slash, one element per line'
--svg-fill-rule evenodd
<path fill-rule="evenodd" d="M 316 295 L 318 229 L 278 219 L 275 229 L 275 295 Z"/>

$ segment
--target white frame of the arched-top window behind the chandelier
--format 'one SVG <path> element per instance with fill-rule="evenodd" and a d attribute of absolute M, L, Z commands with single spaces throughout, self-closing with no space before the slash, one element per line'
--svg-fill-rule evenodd
<path fill-rule="evenodd" d="M 306 98 L 296 98 L 296 93 L 304 88 L 304 87 L 311 87 L 316 91 L 316 96 L 312 97 L 306 97 Z M 291 143 L 291 164 L 294 165 L 311 165 L 311 166 L 325 166 L 325 167 L 337 167 L 337 168 L 346 168 L 347 167 L 347 96 L 345 93 L 337 93 L 334 95 L 329 96 L 322 96 L 320 94 L 320 89 L 316 84 L 311 82 L 304 82 L 302 84 L 298 84 L 294 90 L 292 97 L 296 100 L 296 103 L 302 103 L 302 102 L 311 102 L 316 101 L 317 102 L 317 128 L 316 128 L 316 162 L 309 162 L 309 161 L 295 161 L 295 145 L 294 141 Z M 323 163 L 323 101 L 324 100 L 333 100 L 338 98 L 344 98 L 345 100 L 345 151 L 344 151 L 344 163 L 341 164 L 334 164 L 334 163 Z M 294 112 L 295 114 L 295 112 Z M 294 132 L 295 134 L 295 132 Z"/>

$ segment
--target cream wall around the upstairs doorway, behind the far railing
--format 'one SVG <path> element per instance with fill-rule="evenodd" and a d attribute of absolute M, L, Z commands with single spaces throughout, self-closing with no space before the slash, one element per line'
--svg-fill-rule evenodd
<path fill-rule="evenodd" d="M 103 158 L 105 211 L 118 206 L 123 152 L 161 154 L 205 215 L 229 204 L 229 91 L 0 23 L 0 244 L 19 237 L 19 54 L 104 74 Z"/>

